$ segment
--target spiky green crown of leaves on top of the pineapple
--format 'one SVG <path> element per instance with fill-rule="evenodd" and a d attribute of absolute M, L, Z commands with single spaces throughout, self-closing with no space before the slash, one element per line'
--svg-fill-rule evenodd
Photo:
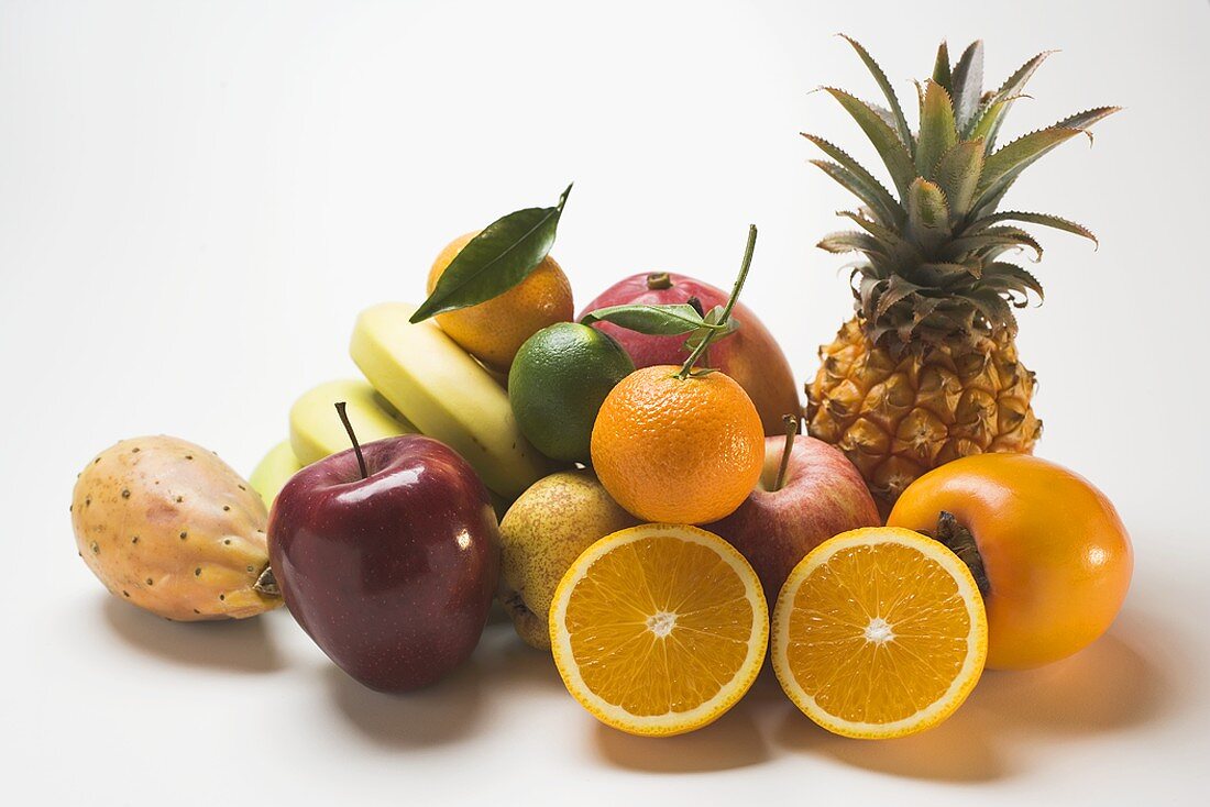
<path fill-rule="evenodd" d="M 1042 259 L 1042 246 L 1019 224 L 1036 224 L 1096 237 L 1081 224 L 1049 213 L 998 211 L 1021 173 L 1060 144 L 1118 111 L 1097 106 L 997 146 L 1013 104 L 1053 53 L 1019 67 L 998 88 L 984 91 L 984 46 L 970 44 L 951 62 L 945 42 L 932 76 L 916 83 L 918 126 L 912 129 L 886 73 L 857 40 L 841 35 L 865 64 L 885 105 L 836 87 L 822 87 L 869 138 L 889 174 L 883 185 L 848 152 L 814 134 L 803 137 L 828 158 L 812 160 L 860 200 L 841 211 L 858 230 L 825 236 L 831 253 L 859 253 L 851 286 L 869 339 L 893 352 L 933 345 L 980 348 L 1002 333 L 1016 333 L 1014 307 L 1042 284 L 1006 253 L 1022 249 Z"/>

